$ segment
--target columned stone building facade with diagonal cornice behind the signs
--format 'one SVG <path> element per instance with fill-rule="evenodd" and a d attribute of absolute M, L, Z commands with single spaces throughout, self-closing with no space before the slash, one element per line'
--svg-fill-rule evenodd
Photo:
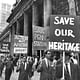
<path fill-rule="evenodd" d="M 18 1 L 18 0 L 17 0 Z M 0 41 L 7 38 L 13 51 L 14 35 L 28 36 L 28 55 L 42 56 L 44 49 L 33 48 L 33 26 L 50 27 L 50 15 L 80 14 L 79 0 L 19 0 L 14 4 L 11 15 L 7 19 L 9 25 L 1 34 Z"/>

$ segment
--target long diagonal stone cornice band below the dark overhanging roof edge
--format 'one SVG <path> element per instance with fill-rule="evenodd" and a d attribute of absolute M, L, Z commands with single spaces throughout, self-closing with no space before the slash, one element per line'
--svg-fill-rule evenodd
<path fill-rule="evenodd" d="M 28 10 L 30 8 L 30 6 L 33 4 L 34 0 L 29 0 L 27 3 L 25 3 L 25 5 L 23 5 L 21 7 L 21 9 L 18 11 L 18 13 L 15 13 L 16 15 L 14 15 L 14 13 L 12 13 L 8 20 L 10 20 L 9 25 L 3 30 L 3 32 L 0 34 L 0 38 L 2 38 L 9 30 L 11 27 L 13 27 L 12 25 L 17 21 L 17 19 L 19 19 L 26 10 Z M 0 39 L 1 41 L 1 39 Z"/>

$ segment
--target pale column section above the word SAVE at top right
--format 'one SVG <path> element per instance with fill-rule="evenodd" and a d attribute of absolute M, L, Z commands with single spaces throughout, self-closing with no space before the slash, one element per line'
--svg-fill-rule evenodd
<path fill-rule="evenodd" d="M 74 0 L 68 0 L 69 3 L 69 15 L 75 15 L 76 16 L 76 6 Z"/>

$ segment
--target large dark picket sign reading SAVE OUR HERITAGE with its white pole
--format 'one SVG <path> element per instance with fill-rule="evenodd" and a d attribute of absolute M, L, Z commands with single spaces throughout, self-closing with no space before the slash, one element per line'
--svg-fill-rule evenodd
<path fill-rule="evenodd" d="M 80 52 L 80 17 L 73 15 L 51 15 L 50 16 L 50 42 L 49 49 L 63 52 L 63 74 L 65 54 L 69 52 Z"/>

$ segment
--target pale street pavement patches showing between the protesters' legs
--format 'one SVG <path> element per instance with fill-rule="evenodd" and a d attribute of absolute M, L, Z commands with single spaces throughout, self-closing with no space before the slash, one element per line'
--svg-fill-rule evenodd
<path fill-rule="evenodd" d="M 16 73 L 16 67 L 14 69 L 14 72 L 12 72 L 10 80 L 18 80 L 19 73 Z M 36 71 L 34 72 L 34 76 L 31 78 L 31 80 L 39 80 L 40 74 Z M 0 80 L 5 80 L 5 69 L 3 70 L 2 77 L 0 77 Z"/>

